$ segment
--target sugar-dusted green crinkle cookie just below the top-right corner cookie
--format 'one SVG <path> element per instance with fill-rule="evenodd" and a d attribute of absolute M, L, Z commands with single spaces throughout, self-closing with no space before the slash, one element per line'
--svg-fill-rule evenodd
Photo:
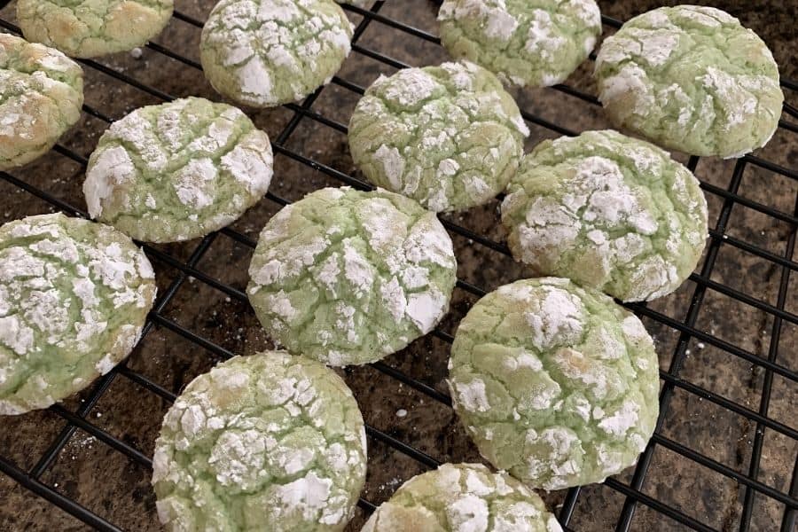
<path fill-rule="evenodd" d="M 671 293 L 707 238 L 707 201 L 690 171 L 612 130 L 537 145 L 502 204 L 513 256 L 622 301 Z"/>

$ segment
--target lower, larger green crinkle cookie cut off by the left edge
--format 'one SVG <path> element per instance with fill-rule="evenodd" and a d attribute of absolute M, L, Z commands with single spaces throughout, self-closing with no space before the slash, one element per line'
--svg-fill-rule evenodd
<path fill-rule="evenodd" d="M 111 371 L 155 290 L 144 252 L 112 227 L 60 214 L 0 227 L 0 415 L 46 408 Z"/>

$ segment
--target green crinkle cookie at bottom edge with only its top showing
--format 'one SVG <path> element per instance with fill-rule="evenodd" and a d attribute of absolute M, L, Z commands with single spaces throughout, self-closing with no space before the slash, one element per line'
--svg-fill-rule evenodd
<path fill-rule="evenodd" d="M 361 532 L 560 532 L 537 495 L 481 464 L 443 464 L 406 481 Z"/>

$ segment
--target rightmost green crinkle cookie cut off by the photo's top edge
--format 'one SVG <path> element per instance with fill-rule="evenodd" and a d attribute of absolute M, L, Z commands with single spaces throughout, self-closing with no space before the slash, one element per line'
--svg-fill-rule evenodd
<path fill-rule="evenodd" d="M 564 81 L 601 35 L 594 0 L 444 0 L 438 20 L 452 56 L 521 87 Z"/>

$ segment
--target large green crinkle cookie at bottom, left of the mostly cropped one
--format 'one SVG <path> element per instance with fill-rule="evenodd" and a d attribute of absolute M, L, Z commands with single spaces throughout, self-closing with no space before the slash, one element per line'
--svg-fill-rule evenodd
<path fill-rule="evenodd" d="M 163 419 L 153 487 L 181 532 L 333 532 L 366 472 L 363 417 L 344 381 L 282 351 L 192 380 Z"/>

